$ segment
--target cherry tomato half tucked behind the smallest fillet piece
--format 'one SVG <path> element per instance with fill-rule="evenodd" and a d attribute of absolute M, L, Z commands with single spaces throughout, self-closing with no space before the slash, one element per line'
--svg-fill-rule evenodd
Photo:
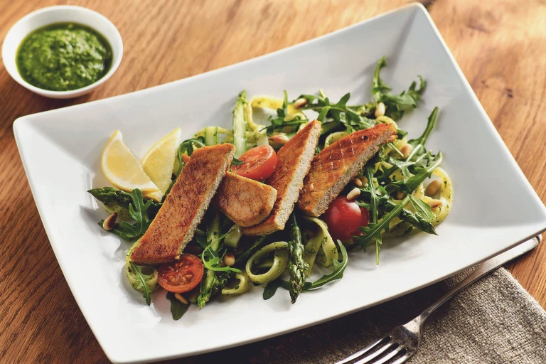
<path fill-rule="evenodd" d="M 242 164 L 232 166 L 231 171 L 255 181 L 263 181 L 273 174 L 277 166 L 277 154 L 270 145 L 255 146 L 239 157 Z"/>

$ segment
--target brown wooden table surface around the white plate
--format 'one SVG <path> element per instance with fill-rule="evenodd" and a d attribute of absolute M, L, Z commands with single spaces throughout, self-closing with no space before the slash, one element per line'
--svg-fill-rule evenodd
<path fill-rule="evenodd" d="M 117 73 L 100 89 L 75 100 L 34 95 L 0 67 L 0 362 L 107 362 L 75 304 L 43 230 L 11 127 L 17 117 L 231 65 L 358 23 L 407 2 L 0 1 L 1 39 L 18 18 L 30 11 L 54 4 L 77 4 L 107 16 L 124 41 L 124 57 Z M 546 201 L 544 1 L 424 3 L 525 176 Z M 509 267 L 543 307 L 545 258 L 546 245 L 542 243 Z M 195 363 L 198 358 L 187 361 Z"/>

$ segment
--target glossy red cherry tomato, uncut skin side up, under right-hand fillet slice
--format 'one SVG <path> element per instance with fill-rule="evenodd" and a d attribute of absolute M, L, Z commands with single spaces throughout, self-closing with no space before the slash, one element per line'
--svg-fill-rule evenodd
<path fill-rule="evenodd" d="M 332 201 L 326 213 L 324 213 L 328 232 L 333 240 L 348 240 L 353 235 L 359 235 L 360 226 L 368 226 L 370 212 L 361 208 L 353 200 L 347 200 L 346 196 L 338 196 Z"/>

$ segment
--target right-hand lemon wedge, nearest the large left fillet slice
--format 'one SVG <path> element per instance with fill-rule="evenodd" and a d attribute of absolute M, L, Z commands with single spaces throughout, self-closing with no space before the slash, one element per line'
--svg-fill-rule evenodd
<path fill-rule="evenodd" d="M 144 193 L 144 197 L 158 202 L 163 198 L 168 186 L 171 185 L 173 165 L 181 139 L 182 129 L 174 129 L 171 134 L 154 144 L 144 155 L 141 161 L 142 168 L 159 189 L 156 192 Z"/>

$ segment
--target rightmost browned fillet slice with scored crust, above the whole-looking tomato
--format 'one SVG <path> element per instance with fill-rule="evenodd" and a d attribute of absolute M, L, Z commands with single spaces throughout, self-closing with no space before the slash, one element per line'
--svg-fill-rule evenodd
<path fill-rule="evenodd" d="M 379 151 L 380 146 L 396 138 L 394 124 L 378 124 L 349 134 L 324 148 L 311 162 L 298 208 L 309 216 L 325 213 L 334 198 Z"/>

